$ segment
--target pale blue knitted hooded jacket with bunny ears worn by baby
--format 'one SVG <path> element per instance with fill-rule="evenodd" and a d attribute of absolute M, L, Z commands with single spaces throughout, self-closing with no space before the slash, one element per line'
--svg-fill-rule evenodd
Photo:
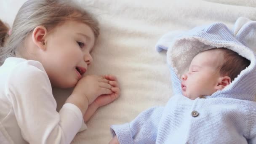
<path fill-rule="evenodd" d="M 157 50 L 167 51 L 173 96 L 165 107 L 142 112 L 130 123 L 112 125 L 120 144 L 256 144 L 256 55 L 244 38 L 255 21 L 234 34 L 222 23 L 196 27 L 171 38 L 164 35 Z M 180 75 L 193 57 L 204 50 L 225 47 L 251 64 L 230 85 L 206 99 L 182 96 Z"/>

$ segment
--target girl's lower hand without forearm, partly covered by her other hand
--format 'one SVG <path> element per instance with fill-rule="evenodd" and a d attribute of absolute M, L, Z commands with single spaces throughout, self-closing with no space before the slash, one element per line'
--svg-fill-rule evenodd
<path fill-rule="evenodd" d="M 109 84 L 112 86 L 111 88 L 112 93 L 106 93 L 99 96 L 93 102 L 96 104 L 97 107 L 102 107 L 106 104 L 109 104 L 120 96 L 120 86 L 117 81 L 117 78 L 113 75 L 104 75 L 104 78 L 109 80 Z"/>

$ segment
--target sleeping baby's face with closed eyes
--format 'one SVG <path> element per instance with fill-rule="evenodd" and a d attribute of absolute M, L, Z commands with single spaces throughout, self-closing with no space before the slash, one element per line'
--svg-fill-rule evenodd
<path fill-rule="evenodd" d="M 189 99 L 196 99 L 216 92 L 220 77 L 218 66 L 222 59 L 219 51 L 197 54 L 191 61 L 189 71 L 181 77 L 182 94 Z"/>

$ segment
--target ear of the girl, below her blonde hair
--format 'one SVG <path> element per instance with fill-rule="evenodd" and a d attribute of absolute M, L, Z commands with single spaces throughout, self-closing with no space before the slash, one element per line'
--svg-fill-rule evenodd
<path fill-rule="evenodd" d="M 34 29 L 32 33 L 32 40 L 38 48 L 45 51 L 46 50 L 46 37 L 47 29 L 43 26 L 38 26 Z"/>

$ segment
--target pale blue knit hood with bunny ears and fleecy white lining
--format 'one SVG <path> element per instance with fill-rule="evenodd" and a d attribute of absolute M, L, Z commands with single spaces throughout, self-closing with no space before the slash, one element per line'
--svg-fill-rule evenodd
<path fill-rule="evenodd" d="M 171 69 L 173 93 L 181 93 L 181 75 L 189 67 L 192 59 L 200 52 L 211 48 L 228 48 L 251 61 L 235 80 L 222 91 L 211 97 L 228 97 L 255 100 L 256 96 L 256 55 L 248 43 L 256 32 L 256 21 L 237 19 L 233 30 L 225 24 L 213 23 L 195 27 L 186 32 L 169 32 L 156 44 L 157 51 L 167 50 L 167 63 Z M 176 35 L 176 36 L 175 36 Z M 254 37 L 256 41 L 256 37 Z M 255 47 L 255 46 L 254 46 Z"/>

